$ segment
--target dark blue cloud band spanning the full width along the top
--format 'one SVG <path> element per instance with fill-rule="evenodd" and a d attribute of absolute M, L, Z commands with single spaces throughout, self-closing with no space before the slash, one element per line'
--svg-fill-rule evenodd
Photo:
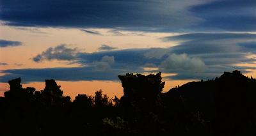
<path fill-rule="evenodd" d="M 254 0 L 1 0 L 0 20 L 10 26 L 246 32 L 256 30 L 255 8 Z"/>

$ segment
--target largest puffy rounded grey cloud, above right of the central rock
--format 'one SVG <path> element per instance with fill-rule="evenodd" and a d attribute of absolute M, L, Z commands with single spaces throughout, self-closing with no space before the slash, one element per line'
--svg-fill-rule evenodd
<path fill-rule="evenodd" d="M 204 62 L 197 57 L 189 57 L 187 54 L 172 54 L 167 57 L 159 66 L 163 72 L 203 72 Z"/>

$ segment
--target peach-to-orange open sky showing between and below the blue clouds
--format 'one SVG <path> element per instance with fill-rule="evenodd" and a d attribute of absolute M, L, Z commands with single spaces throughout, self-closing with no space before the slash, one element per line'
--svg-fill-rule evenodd
<path fill-rule="evenodd" d="M 49 47 L 56 47 L 60 44 L 67 44 L 69 48 L 77 48 L 79 52 L 97 52 L 98 48 L 102 44 L 111 45 L 117 47 L 118 50 L 122 49 L 149 49 L 152 47 L 173 47 L 178 45 L 177 41 L 163 42 L 160 38 L 164 36 L 175 36 L 182 33 L 149 33 L 140 31 L 120 31 L 124 33 L 123 36 L 115 36 L 109 31 L 111 29 L 95 29 L 101 33 L 100 35 L 88 34 L 80 31 L 79 29 L 68 28 L 52 28 L 52 27 L 29 27 L 30 31 L 17 29 L 19 27 L 0 26 L 0 38 L 4 40 L 19 41 L 23 44 L 17 47 L 4 47 L 0 49 L 0 63 L 6 63 L 0 66 L 0 76 L 6 73 L 1 73 L 1 70 L 10 69 L 24 69 L 24 68 L 67 68 L 84 66 L 83 64 L 70 63 L 70 61 L 42 61 L 36 63 L 32 60 L 37 54 L 41 54 L 43 51 L 49 49 Z M 137 33 L 137 34 L 132 34 Z M 140 34 L 143 33 L 143 34 Z M 248 54 L 248 58 L 256 58 L 254 54 Z M 256 63 L 249 64 L 237 64 L 236 66 L 251 66 L 255 67 Z M 145 67 L 144 70 L 157 70 L 157 68 Z M 248 70 L 249 73 L 244 75 L 250 77 L 256 77 L 255 70 Z M 143 73 L 148 74 L 148 73 Z M 170 80 L 164 79 L 166 76 L 172 76 L 177 73 L 162 73 L 163 81 L 166 82 L 163 92 L 167 92 L 172 87 L 181 86 L 191 80 Z M 108 94 L 109 98 L 114 96 L 122 96 L 123 88 L 120 82 L 113 81 L 58 81 L 58 85 L 64 91 L 65 96 L 71 96 L 72 100 L 77 94 L 94 95 L 95 91 L 102 89 L 103 93 Z M 40 91 L 44 89 L 44 82 L 31 82 L 28 84 L 22 84 L 22 87 L 35 87 Z M 3 96 L 4 91 L 8 91 L 8 83 L 0 83 L 0 96 Z"/>

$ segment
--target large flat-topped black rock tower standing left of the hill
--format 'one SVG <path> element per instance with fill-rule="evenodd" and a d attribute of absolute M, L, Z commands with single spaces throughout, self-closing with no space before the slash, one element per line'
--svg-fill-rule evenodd
<path fill-rule="evenodd" d="M 161 81 L 161 72 L 147 76 L 127 73 L 126 75 L 118 75 L 118 77 L 124 87 L 122 100 L 125 106 L 152 110 L 158 104 L 157 100 L 159 100 L 165 83 Z"/>

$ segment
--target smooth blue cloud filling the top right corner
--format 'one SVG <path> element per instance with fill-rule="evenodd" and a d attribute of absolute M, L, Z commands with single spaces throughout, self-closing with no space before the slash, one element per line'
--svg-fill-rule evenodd
<path fill-rule="evenodd" d="M 225 0 L 196 5 L 190 11 L 205 20 L 194 28 L 245 32 L 256 30 L 255 8 L 254 0 Z"/>

